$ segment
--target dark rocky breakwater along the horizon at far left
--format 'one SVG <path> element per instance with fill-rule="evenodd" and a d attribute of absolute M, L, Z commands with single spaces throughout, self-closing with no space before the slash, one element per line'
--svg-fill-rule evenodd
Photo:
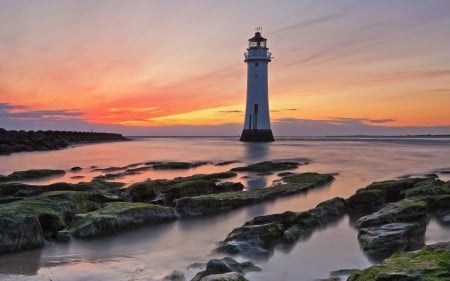
<path fill-rule="evenodd" d="M 0 128 L 0 155 L 58 150 L 81 143 L 126 141 L 121 134 L 75 131 L 15 131 Z"/>

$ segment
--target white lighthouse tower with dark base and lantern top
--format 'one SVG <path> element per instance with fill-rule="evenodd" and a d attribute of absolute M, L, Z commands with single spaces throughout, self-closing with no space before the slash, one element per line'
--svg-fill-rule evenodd
<path fill-rule="evenodd" d="M 271 53 L 267 48 L 267 39 L 262 37 L 260 31 L 261 28 L 257 28 L 255 35 L 248 39 L 248 49 L 244 54 L 247 63 L 247 100 L 240 139 L 244 142 L 274 141 L 270 128 L 267 83 Z"/>

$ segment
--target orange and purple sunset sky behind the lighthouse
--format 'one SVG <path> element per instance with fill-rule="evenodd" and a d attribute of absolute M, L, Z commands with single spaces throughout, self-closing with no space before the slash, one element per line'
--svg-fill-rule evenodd
<path fill-rule="evenodd" d="M 239 135 L 256 27 L 275 136 L 450 134 L 448 0 L 0 0 L 0 127 Z"/>

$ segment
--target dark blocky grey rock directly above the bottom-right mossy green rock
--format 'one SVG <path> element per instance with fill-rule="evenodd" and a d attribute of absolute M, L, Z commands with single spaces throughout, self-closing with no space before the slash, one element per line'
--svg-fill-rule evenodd
<path fill-rule="evenodd" d="M 424 245 L 425 224 L 389 223 L 361 228 L 358 240 L 363 251 L 373 260 L 382 260 L 397 251 L 415 250 Z"/>

